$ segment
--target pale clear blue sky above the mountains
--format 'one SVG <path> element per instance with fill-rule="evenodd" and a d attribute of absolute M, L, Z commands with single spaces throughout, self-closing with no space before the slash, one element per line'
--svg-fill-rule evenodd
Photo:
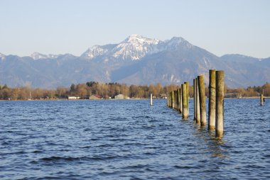
<path fill-rule="evenodd" d="M 215 55 L 270 56 L 268 0 L 0 0 L 0 52 L 71 53 L 139 34 Z"/>

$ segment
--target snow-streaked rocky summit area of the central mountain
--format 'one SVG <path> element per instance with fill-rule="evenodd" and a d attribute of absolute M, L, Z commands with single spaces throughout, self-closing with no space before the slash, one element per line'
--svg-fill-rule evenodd
<path fill-rule="evenodd" d="M 177 50 L 182 47 L 189 49 L 193 47 L 183 38 L 172 38 L 171 40 L 157 40 L 145 38 L 141 35 L 130 35 L 117 45 L 95 45 L 84 52 L 81 57 L 93 60 L 96 57 L 112 57 L 120 60 L 141 60 L 146 55 L 152 55 L 164 50 Z"/>

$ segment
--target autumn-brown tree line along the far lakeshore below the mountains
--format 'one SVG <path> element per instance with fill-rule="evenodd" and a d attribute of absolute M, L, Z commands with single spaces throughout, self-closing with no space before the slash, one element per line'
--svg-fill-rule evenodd
<path fill-rule="evenodd" d="M 88 99 L 92 94 L 101 96 L 103 99 L 114 98 L 118 94 L 129 96 L 135 99 L 145 99 L 153 94 L 156 98 L 163 98 L 167 92 L 180 88 L 180 86 L 171 84 L 162 86 L 158 84 L 150 85 L 126 85 L 119 83 L 99 83 L 88 81 L 85 84 L 71 84 L 70 88 L 58 87 L 57 89 L 33 89 L 28 86 L 10 88 L 6 85 L 0 85 L 1 100 L 28 100 L 28 99 L 68 99 L 68 96 L 77 96 L 80 99 Z M 229 89 L 225 86 L 225 93 L 232 97 L 252 97 L 259 96 L 264 91 L 264 96 L 270 96 L 270 84 L 263 86 L 249 86 L 247 89 L 237 88 Z M 207 96 L 208 89 L 205 89 Z M 193 97 L 193 86 L 189 87 L 189 95 Z"/>

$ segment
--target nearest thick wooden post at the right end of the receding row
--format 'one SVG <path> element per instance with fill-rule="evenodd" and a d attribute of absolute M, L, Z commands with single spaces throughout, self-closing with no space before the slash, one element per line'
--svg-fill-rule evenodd
<path fill-rule="evenodd" d="M 215 135 L 223 136 L 224 126 L 224 71 L 216 71 Z"/>

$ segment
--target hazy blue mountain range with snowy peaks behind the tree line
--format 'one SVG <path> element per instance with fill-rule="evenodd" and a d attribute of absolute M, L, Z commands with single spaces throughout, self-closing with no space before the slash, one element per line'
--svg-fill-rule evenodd
<path fill-rule="evenodd" d="M 18 57 L 0 53 L 0 84 L 55 88 L 86 81 L 127 84 L 193 83 L 209 69 L 224 69 L 231 87 L 261 85 L 270 81 L 270 57 L 217 55 L 184 38 L 170 40 L 130 35 L 118 44 L 95 45 L 80 56 L 71 54 Z"/>

